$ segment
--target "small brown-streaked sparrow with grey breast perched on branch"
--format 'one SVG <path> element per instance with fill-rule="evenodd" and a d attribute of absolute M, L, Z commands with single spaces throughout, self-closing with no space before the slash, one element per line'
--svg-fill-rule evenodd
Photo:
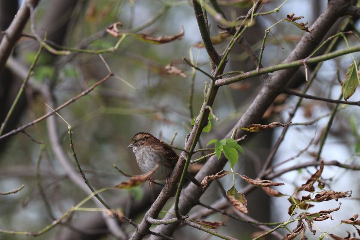
<path fill-rule="evenodd" d="M 138 162 L 141 171 L 144 173 L 150 172 L 157 163 L 159 164 L 152 178 L 149 178 L 149 187 L 154 179 L 159 181 L 166 180 L 166 185 L 168 185 L 168 177 L 179 159 L 179 156 L 172 148 L 163 144 L 148 132 L 136 133 L 127 148 L 132 148 L 132 151 L 135 153 L 136 162 Z M 186 171 L 186 177 L 195 185 L 201 187 L 199 181 L 188 171 Z"/>

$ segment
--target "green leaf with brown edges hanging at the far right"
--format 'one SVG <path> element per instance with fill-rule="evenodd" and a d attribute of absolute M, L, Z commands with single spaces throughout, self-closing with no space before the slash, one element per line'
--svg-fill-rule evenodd
<path fill-rule="evenodd" d="M 358 84 L 359 72 L 355 61 L 353 61 L 347 69 L 345 80 L 341 83 L 341 91 L 345 101 L 354 94 Z"/>

